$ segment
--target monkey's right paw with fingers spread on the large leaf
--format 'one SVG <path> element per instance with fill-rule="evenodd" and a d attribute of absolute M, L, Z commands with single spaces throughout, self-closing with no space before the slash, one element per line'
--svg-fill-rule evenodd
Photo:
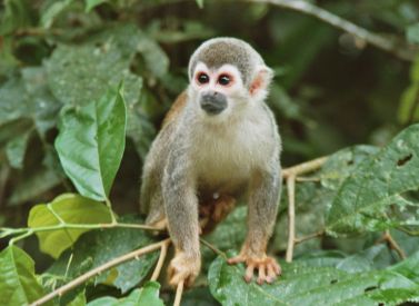
<path fill-rule="evenodd" d="M 246 274 L 245 280 L 250 283 L 253 278 L 253 270 L 258 269 L 258 284 L 262 285 L 265 282 L 271 284 L 281 274 L 281 266 L 272 257 L 263 255 L 262 257 L 249 256 L 249 255 L 238 255 L 228 259 L 230 265 L 238 263 L 246 263 Z"/>

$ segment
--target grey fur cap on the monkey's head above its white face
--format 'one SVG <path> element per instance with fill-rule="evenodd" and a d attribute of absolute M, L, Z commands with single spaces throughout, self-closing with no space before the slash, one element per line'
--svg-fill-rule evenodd
<path fill-rule="evenodd" d="M 209 69 L 218 69 L 223 65 L 232 65 L 239 70 L 243 83 L 248 83 L 256 65 L 261 59 L 259 55 L 246 42 L 231 42 L 231 39 L 215 40 L 211 43 L 202 45 L 197 49 L 189 65 L 190 76 L 193 73 L 198 62 L 203 62 Z"/>

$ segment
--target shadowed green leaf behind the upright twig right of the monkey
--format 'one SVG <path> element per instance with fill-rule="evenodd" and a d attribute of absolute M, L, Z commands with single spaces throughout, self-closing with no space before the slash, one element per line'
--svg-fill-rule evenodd
<path fill-rule="evenodd" d="M 313 181 L 300 181 L 296 186 L 296 234 L 302 237 L 325 229 L 325 215 L 340 185 L 369 156 L 377 154 L 372 146 L 353 146 L 330 155 L 325 165 L 310 174 Z M 288 239 L 288 195 L 283 188 L 280 214 L 276 224 L 272 248 L 282 251 Z M 320 239 L 311 239 L 296 246 L 295 255 L 321 248 Z"/>

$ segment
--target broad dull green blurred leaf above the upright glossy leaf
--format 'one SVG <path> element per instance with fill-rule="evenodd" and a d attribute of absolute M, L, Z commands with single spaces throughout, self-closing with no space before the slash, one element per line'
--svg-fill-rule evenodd
<path fill-rule="evenodd" d="M 97 45 L 60 45 L 44 62 L 48 82 L 61 102 L 83 106 L 123 80 L 124 98 L 131 106 L 138 101 L 142 87 L 142 79 L 129 70 L 131 57 L 132 53 L 126 55 L 113 37 Z"/>

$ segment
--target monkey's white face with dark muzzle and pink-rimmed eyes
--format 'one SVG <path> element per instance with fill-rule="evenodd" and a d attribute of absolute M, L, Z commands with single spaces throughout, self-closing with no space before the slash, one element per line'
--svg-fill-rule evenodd
<path fill-rule="evenodd" d="M 246 100 L 239 70 L 231 65 L 208 68 L 199 62 L 191 79 L 196 106 L 206 117 L 226 118 Z"/>

